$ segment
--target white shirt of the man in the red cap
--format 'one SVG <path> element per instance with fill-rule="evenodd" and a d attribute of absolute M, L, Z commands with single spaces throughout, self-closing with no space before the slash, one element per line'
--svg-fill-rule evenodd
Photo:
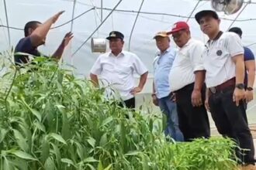
<path fill-rule="evenodd" d="M 195 71 L 205 70 L 202 63 L 204 44 L 195 39 L 189 41 L 178 50 L 169 74 L 171 91 L 182 89 L 195 82 Z"/>

